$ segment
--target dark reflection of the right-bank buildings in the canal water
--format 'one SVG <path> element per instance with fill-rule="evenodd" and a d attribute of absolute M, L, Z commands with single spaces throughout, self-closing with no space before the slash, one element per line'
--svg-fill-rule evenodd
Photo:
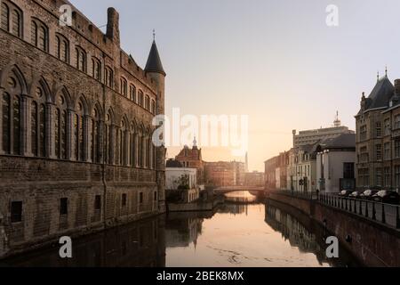
<path fill-rule="evenodd" d="M 339 249 L 340 258 L 328 258 L 325 253 L 328 245 L 324 243 L 324 240 L 331 234 L 308 216 L 298 211 L 291 215 L 288 213 L 289 211 L 291 211 L 291 208 L 268 200 L 265 221 L 276 232 L 281 232 L 282 238 L 288 240 L 292 247 L 299 248 L 299 251 L 303 253 L 315 254 L 320 265 L 328 263 L 331 266 L 340 267 L 360 266 L 354 256 L 351 256 L 341 246 Z"/>

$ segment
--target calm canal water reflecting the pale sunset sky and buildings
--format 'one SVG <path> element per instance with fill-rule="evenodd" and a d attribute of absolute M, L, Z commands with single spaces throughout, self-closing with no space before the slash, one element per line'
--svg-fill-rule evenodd
<path fill-rule="evenodd" d="M 328 233 L 308 216 L 248 191 L 226 197 L 214 212 L 172 213 L 76 239 L 70 259 L 60 259 L 54 244 L 0 266 L 359 265 L 341 247 L 340 258 L 327 258 Z"/>

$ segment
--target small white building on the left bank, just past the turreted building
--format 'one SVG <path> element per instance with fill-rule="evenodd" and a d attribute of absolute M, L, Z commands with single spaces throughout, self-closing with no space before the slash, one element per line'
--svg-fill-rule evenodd
<path fill-rule="evenodd" d="M 190 203 L 199 198 L 196 168 L 166 167 L 165 191 L 183 191 L 183 202 Z"/>

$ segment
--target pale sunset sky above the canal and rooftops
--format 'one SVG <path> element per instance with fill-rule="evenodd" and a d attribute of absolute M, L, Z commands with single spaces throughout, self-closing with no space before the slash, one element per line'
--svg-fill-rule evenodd
<path fill-rule="evenodd" d="M 166 114 L 248 115 L 251 171 L 292 147 L 292 129 L 332 126 L 337 110 L 355 129 L 361 94 L 370 94 L 377 72 L 388 66 L 389 79 L 400 78 L 398 0 L 71 3 L 98 27 L 114 6 L 121 45 L 142 68 L 155 28 Z M 337 27 L 326 25 L 330 4 L 338 7 Z M 203 148 L 203 159 L 244 161 L 228 148 Z"/>

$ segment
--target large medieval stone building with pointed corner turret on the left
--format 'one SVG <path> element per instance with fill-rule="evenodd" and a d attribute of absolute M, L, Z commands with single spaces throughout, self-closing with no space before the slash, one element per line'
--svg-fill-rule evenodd
<path fill-rule="evenodd" d="M 164 212 L 165 72 L 65 0 L 0 1 L 0 256 Z"/>

